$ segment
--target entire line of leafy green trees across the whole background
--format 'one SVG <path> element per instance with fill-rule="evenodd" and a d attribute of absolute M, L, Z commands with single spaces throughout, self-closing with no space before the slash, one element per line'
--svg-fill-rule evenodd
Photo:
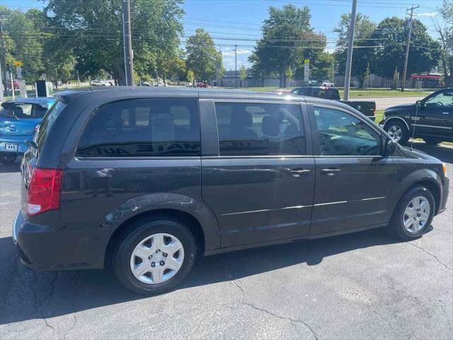
<path fill-rule="evenodd" d="M 222 53 L 202 28 L 190 36 L 183 32 L 183 0 L 131 1 L 134 77 L 200 81 L 215 79 Z M 76 73 L 81 79 L 105 78 L 125 84 L 121 0 L 48 0 L 45 8 L 20 10 L 0 6 L 3 24 L 2 44 L 6 64 L 22 60 L 23 77 L 28 81 L 46 74 L 52 81 L 67 82 Z M 435 21 L 440 38 L 433 39 L 428 28 L 413 20 L 408 74 L 441 72 L 447 86 L 453 74 L 453 0 L 439 8 L 441 21 Z M 343 73 L 350 14 L 343 14 L 334 28 L 332 41 L 311 26 L 308 6 L 270 6 L 263 21 L 262 38 L 253 48 L 251 69 L 239 76 L 263 80 L 278 77 L 280 86 L 287 79 L 304 78 L 304 60 L 310 60 L 311 79 L 333 79 Z M 408 19 L 385 18 L 372 22 L 357 13 L 352 76 L 364 86 L 370 74 L 393 77 L 402 72 L 408 35 Z M 328 44 L 335 50 L 328 52 Z M 183 47 L 184 48 L 183 48 Z M 224 68 L 220 69 L 220 77 Z"/>

